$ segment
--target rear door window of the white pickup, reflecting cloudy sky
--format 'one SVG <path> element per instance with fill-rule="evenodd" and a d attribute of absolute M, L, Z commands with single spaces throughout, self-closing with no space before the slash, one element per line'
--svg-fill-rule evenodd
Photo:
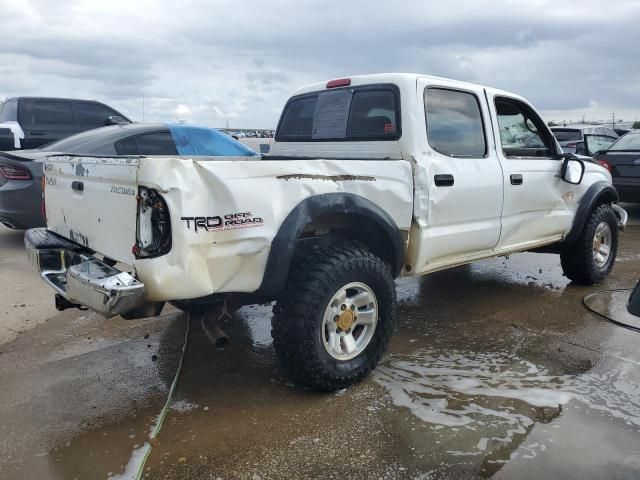
<path fill-rule="evenodd" d="M 487 153 L 480 104 L 475 95 L 458 90 L 426 88 L 427 137 L 435 150 L 455 157 Z"/>

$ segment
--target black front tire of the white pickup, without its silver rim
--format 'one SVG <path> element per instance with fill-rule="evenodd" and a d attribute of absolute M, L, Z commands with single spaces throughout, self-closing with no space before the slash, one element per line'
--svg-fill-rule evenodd
<path fill-rule="evenodd" d="M 611 250 L 606 263 L 597 265 L 593 254 L 593 242 L 598 225 L 606 222 L 611 230 Z M 560 253 L 560 262 L 564 274 L 572 281 L 582 285 L 594 285 L 607 278 L 618 252 L 618 221 L 610 204 L 596 207 L 584 224 L 580 237 L 564 245 Z"/>

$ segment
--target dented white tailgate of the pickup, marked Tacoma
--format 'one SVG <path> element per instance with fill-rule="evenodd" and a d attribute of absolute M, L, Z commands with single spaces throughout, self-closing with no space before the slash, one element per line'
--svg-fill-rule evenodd
<path fill-rule="evenodd" d="M 56 156 L 45 164 L 47 228 L 132 264 L 138 159 Z"/>

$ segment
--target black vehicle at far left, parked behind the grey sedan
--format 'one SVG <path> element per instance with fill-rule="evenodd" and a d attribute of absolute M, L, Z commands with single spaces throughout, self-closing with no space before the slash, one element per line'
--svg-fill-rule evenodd
<path fill-rule="evenodd" d="M 93 100 L 13 97 L 0 105 L 0 151 L 37 148 L 74 133 L 130 122 Z"/>

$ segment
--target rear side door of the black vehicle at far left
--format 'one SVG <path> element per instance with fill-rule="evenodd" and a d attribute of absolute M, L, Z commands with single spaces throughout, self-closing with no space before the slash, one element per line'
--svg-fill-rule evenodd
<path fill-rule="evenodd" d="M 77 132 L 70 100 L 25 99 L 21 125 L 23 148 L 37 148 Z"/>

